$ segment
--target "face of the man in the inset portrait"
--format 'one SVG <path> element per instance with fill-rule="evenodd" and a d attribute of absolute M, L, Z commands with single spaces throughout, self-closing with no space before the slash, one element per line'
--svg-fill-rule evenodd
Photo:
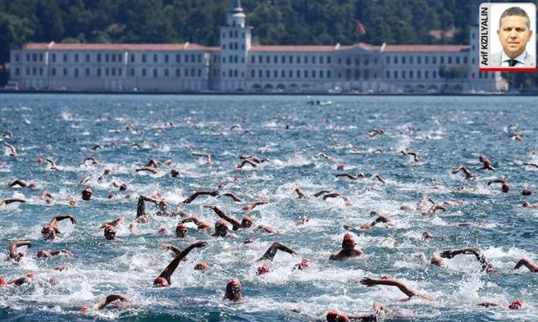
<path fill-rule="evenodd" d="M 497 30 L 500 44 L 503 45 L 504 52 L 514 59 L 525 52 L 527 42 L 532 36 L 532 31 L 527 28 L 527 19 L 522 16 L 506 16 L 500 20 L 500 27 Z"/>

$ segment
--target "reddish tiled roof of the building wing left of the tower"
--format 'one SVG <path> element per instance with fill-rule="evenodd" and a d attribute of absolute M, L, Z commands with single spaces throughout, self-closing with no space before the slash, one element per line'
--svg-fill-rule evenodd
<path fill-rule="evenodd" d="M 220 50 L 220 47 L 207 47 L 201 44 L 57 44 L 51 42 L 31 42 L 23 45 L 23 49 L 30 50 L 118 50 L 118 51 L 207 51 L 215 52 Z"/>

